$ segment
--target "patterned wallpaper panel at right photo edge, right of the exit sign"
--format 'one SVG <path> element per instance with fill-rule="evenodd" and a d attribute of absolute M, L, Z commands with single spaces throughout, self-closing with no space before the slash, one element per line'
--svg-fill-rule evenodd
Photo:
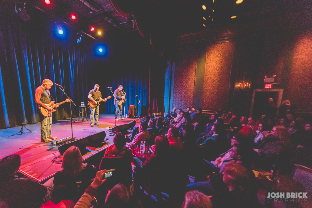
<path fill-rule="evenodd" d="M 312 32 L 302 35 L 294 45 L 287 98 L 295 108 L 312 110 Z"/>

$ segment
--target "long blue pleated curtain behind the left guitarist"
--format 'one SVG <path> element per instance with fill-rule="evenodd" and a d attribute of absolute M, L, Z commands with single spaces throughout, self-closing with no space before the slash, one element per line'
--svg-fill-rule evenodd
<path fill-rule="evenodd" d="M 39 121 L 34 97 L 45 78 L 64 87 L 77 105 L 72 106 L 73 117 L 78 116 L 80 102 L 88 101 L 88 79 L 93 83 L 87 71 L 94 67 L 92 53 L 72 38 L 75 32 L 69 30 L 71 39 L 59 40 L 48 26 L 39 27 L 35 20 L 24 22 L 0 13 L 0 128 Z M 66 99 L 56 86 L 50 92 L 55 102 Z M 69 107 L 69 103 L 61 105 L 52 119 L 68 118 Z"/>

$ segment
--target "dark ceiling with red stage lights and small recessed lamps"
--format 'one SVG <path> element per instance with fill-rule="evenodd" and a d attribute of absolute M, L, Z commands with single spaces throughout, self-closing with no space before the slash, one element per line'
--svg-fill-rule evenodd
<path fill-rule="evenodd" d="M 133 28 L 133 20 L 138 14 L 144 18 L 148 30 L 181 34 L 310 11 L 312 2 L 309 0 L 244 0 L 236 4 L 236 0 L 129 0 L 132 2 L 134 12 L 132 16 L 125 18 L 115 11 L 109 0 L 50 0 L 50 5 L 46 5 L 44 0 L 22 1 L 27 2 L 26 7 L 40 8 L 95 37 L 95 32 L 89 31 L 90 26 L 106 33 L 136 30 L 135 26 Z M 11 1 L 11 7 L 14 5 L 15 1 Z M 21 3 L 17 4 L 17 7 L 19 5 Z M 203 10 L 202 5 L 207 9 Z M 75 21 L 70 19 L 72 13 L 77 16 Z M 237 17 L 231 19 L 234 15 Z"/>

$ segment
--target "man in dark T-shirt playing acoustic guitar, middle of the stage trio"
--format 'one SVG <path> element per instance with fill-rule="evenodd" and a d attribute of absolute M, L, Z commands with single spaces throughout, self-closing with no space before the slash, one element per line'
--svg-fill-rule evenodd
<path fill-rule="evenodd" d="M 90 90 L 88 98 L 96 105 L 98 102 L 95 101 L 95 99 L 99 98 L 100 100 L 102 100 L 102 94 L 99 91 L 100 85 L 95 84 L 94 85 L 94 89 Z M 107 98 L 104 99 L 104 102 L 107 101 Z M 100 106 L 97 105 L 95 106 L 95 108 L 91 108 L 91 114 L 90 114 L 90 126 L 94 125 L 98 126 L 100 124 L 98 124 L 99 121 L 99 111 L 100 111 Z M 95 119 L 94 119 L 95 116 Z"/>

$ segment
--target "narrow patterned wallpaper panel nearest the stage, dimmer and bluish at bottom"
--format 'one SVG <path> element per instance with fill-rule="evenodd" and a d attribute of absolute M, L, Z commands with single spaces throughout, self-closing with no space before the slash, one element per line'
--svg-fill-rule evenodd
<path fill-rule="evenodd" d="M 194 48 L 179 49 L 174 68 L 173 107 L 193 106 L 197 53 Z"/>

